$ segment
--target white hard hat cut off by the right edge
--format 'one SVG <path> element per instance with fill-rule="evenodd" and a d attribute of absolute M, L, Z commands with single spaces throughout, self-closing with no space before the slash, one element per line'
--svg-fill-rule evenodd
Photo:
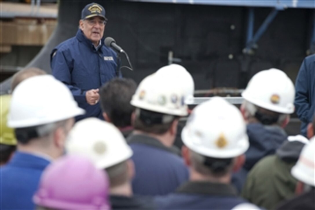
<path fill-rule="evenodd" d="M 299 160 L 291 169 L 291 174 L 305 184 L 315 186 L 315 137 L 310 139 L 300 154 Z"/>

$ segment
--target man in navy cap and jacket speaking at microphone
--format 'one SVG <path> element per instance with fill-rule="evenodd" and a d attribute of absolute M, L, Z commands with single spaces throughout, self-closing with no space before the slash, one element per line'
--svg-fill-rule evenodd
<path fill-rule="evenodd" d="M 56 46 L 50 55 L 52 74 L 68 86 L 79 107 L 86 111 L 76 121 L 87 117 L 104 120 L 98 104 L 99 88 L 116 77 L 117 54 L 104 44 L 105 14 L 102 5 L 87 4 L 76 36 Z"/>

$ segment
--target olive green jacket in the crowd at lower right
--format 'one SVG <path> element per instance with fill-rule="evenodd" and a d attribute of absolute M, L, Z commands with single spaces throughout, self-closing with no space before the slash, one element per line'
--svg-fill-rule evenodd
<path fill-rule="evenodd" d="M 278 155 L 260 160 L 249 172 L 242 197 L 257 206 L 273 209 L 280 201 L 294 196 L 297 180 L 290 171 L 295 161 L 285 162 Z"/>

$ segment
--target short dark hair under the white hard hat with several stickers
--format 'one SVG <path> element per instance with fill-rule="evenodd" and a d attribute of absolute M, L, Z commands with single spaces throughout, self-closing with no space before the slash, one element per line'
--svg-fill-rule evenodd
<path fill-rule="evenodd" d="M 170 120 L 166 123 L 162 123 L 164 117 L 168 117 Z M 136 110 L 134 128 L 135 130 L 160 135 L 166 133 L 174 120 L 177 119 L 179 119 L 178 116 L 139 108 Z"/>

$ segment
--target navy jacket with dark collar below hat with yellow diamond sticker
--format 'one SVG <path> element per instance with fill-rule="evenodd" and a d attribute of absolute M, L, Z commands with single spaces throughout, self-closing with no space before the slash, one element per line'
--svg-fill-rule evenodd
<path fill-rule="evenodd" d="M 158 209 L 232 209 L 248 203 L 233 186 L 210 182 L 187 182 L 175 193 L 155 198 Z M 257 208 L 254 205 L 253 209 Z"/>

